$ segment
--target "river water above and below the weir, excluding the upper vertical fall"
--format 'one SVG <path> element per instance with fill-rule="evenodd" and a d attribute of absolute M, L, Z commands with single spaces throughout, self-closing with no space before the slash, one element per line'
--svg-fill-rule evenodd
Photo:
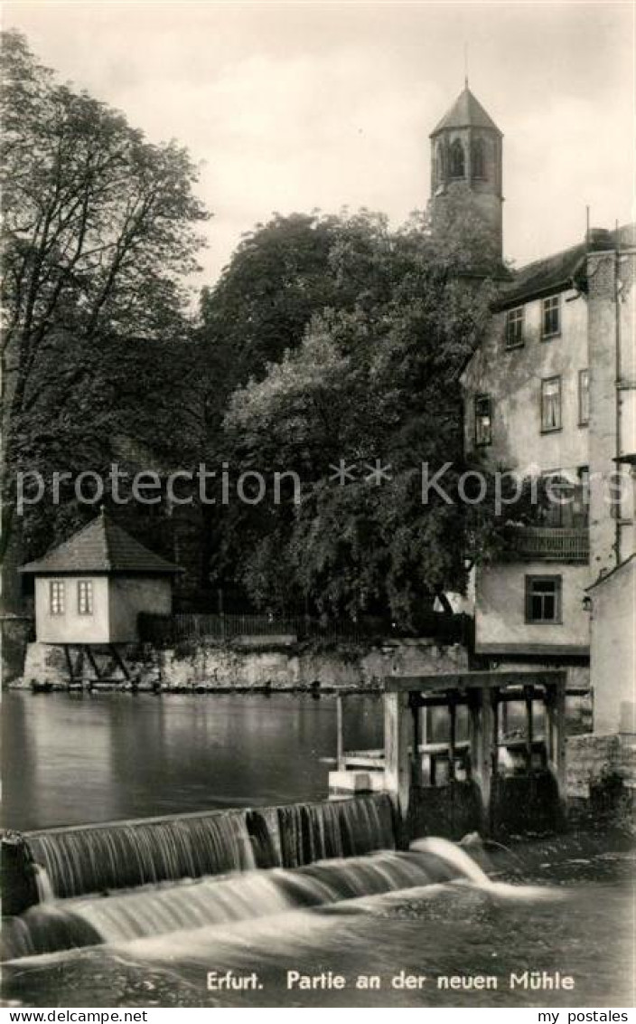
<path fill-rule="evenodd" d="M 377 743 L 379 702 L 352 700 L 348 745 Z M 335 739 L 332 698 L 301 695 L 9 693 L 2 718 L 5 823 L 21 828 L 317 799 L 326 792 L 321 759 Z M 493 847 L 480 861 L 486 874 L 465 854 L 468 869 L 460 864 L 456 877 L 431 870 L 431 862 L 452 867 L 457 848 L 448 850 L 437 861 L 415 850 L 305 868 L 312 905 L 289 897 L 298 871 L 123 894 L 126 912 L 104 945 L 13 961 L 4 998 L 46 1007 L 633 1005 L 634 856 L 621 837 Z M 234 887 L 232 899 L 218 896 L 223 885 Z M 134 900 L 144 913 L 132 914 Z M 112 896 L 102 903 L 116 906 Z M 169 904 L 171 912 L 210 907 L 212 916 L 126 937 L 121 921 L 143 924 L 148 906 L 148 920 L 158 920 Z M 98 897 L 78 906 L 99 920 Z M 214 983 L 226 971 L 256 972 L 257 987 L 210 989 L 209 974 Z M 289 985 L 289 971 L 317 976 L 314 987 Z M 540 989 L 526 987 L 527 971 Z M 329 972 L 344 988 L 324 987 Z M 406 976 L 416 987 L 405 987 Z M 564 976 L 574 989 L 558 987 Z M 369 977 L 380 987 L 360 988 Z"/>

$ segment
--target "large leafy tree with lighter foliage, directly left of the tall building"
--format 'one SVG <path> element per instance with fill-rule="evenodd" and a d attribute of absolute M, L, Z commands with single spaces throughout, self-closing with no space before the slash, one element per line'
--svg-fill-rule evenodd
<path fill-rule="evenodd" d="M 328 614 L 390 612 L 415 628 L 441 588 L 462 588 L 468 519 L 431 494 L 422 468 L 463 468 L 459 371 L 487 324 L 492 289 L 419 219 L 391 231 L 366 215 L 334 230 L 333 294 L 357 296 L 312 318 L 300 345 L 233 395 L 225 419 L 236 472 L 292 470 L 304 500 L 237 506 L 221 562 L 253 600 Z M 461 247 L 459 247 L 461 251 Z M 450 254 L 449 254 L 450 253 Z M 355 467 L 344 483 L 339 465 Z M 373 470 L 387 467 L 390 479 Z M 427 598 L 426 598 L 427 595 Z"/>

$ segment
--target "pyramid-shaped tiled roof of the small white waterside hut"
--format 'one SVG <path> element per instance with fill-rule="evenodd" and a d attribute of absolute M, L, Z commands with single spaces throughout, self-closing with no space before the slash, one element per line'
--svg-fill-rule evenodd
<path fill-rule="evenodd" d="M 102 511 L 67 541 L 52 548 L 43 558 L 22 565 L 19 571 L 43 575 L 74 572 L 168 575 L 181 569 L 148 551 Z"/>

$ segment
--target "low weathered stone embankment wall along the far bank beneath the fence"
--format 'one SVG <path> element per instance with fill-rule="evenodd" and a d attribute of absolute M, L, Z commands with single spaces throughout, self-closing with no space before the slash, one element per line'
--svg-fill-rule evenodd
<path fill-rule="evenodd" d="M 467 652 L 460 644 L 442 646 L 427 639 L 388 641 L 368 647 L 343 644 L 323 651 L 304 649 L 282 639 L 279 645 L 270 642 L 267 647 L 255 649 L 245 639 L 232 645 L 201 643 L 165 650 L 150 645 L 131 646 L 125 650 L 125 657 L 139 689 L 161 687 L 167 691 L 373 689 L 384 676 L 467 668 Z M 88 677 L 88 666 L 86 670 Z M 20 685 L 30 686 L 33 681 L 54 687 L 67 684 L 62 647 L 29 645 Z"/>

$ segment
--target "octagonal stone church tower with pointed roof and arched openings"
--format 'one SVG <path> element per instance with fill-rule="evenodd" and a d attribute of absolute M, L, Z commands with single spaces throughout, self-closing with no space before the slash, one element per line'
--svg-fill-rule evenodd
<path fill-rule="evenodd" d="M 503 258 L 502 139 L 495 122 L 470 92 L 468 81 L 430 133 L 430 212 L 443 213 L 453 193 L 474 205 L 488 248 Z"/>

